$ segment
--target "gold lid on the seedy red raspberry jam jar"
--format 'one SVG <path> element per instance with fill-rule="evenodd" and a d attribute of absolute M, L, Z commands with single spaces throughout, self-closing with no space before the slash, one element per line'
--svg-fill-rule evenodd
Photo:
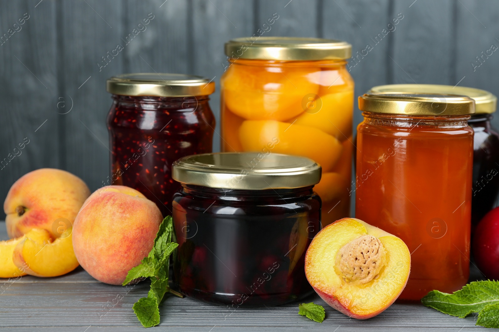
<path fill-rule="evenodd" d="M 206 96 L 215 92 L 215 82 L 194 75 L 135 73 L 111 77 L 106 90 L 124 96 Z"/>

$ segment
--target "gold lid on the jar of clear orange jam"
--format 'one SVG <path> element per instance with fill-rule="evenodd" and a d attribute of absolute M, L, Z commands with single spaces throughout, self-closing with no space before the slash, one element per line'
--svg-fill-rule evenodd
<path fill-rule="evenodd" d="M 367 93 L 359 97 L 361 111 L 401 115 L 467 115 L 475 101 L 467 96 L 437 93 Z"/>

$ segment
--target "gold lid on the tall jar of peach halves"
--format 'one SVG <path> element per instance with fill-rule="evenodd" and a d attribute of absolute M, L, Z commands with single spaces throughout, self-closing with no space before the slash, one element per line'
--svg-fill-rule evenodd
<path fill-rule="evenodd" d="M 352 45 L 322 38 L 242 37 L 228 41 L 225 54 L 234 59 L 345 60 L 352 56 Z"/>

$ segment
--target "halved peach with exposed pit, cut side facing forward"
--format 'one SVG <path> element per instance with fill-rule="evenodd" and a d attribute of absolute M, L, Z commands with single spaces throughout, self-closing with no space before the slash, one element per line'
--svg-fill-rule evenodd
<path fill-rule="evenodd" d="M 407 245 L 364 221 L 323 228 L 305 255 L 305 275 L 331 307 L 356 319 L 374 317 L 402 293 L 411 269 Z"/>

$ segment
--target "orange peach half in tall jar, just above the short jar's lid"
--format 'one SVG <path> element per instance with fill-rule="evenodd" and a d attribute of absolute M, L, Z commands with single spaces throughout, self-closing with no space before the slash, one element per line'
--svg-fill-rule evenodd
<path fill-rule="evenodd" d="M 272 152 L 305 156 L 328 172 L 338 161 L 343 146 L 333 136 L 314 127 L 274 120 L 246 120 L 239 129 L 245 151 L 263 151 L 274 143 Z"/>

